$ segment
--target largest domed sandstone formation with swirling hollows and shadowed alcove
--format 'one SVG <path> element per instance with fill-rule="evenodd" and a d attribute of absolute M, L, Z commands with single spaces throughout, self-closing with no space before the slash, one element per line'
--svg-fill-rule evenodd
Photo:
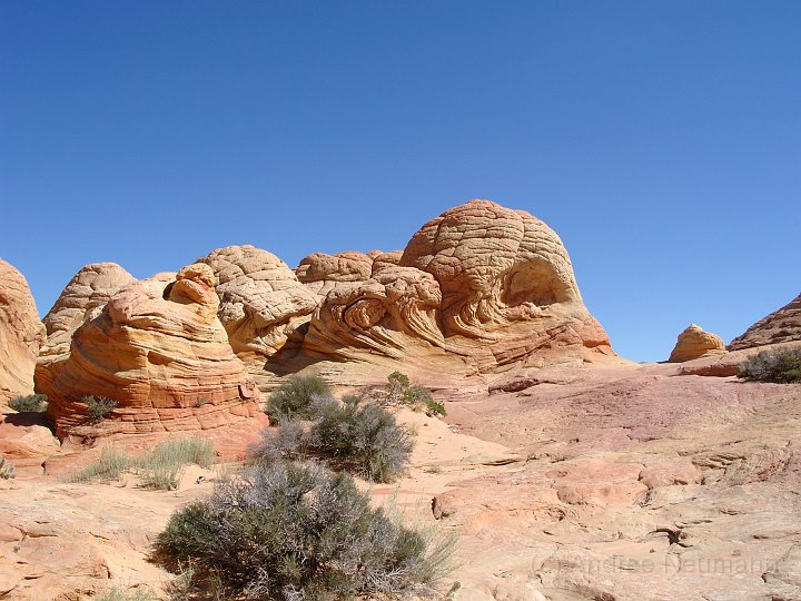
<path fill-rule="evenodd" d="M 462 377 L 614 355 L 562 242 L 525 211 L 471 200 L 424 225 L 399 258 L 376 255 L 368 273 L 362 257 L 312 255 L 298 268 L 326 294 L 304 339 L 310 356 Z"/>

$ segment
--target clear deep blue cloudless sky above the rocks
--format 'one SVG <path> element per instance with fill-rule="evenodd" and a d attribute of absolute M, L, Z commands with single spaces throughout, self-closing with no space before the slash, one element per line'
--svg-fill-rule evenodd
<path fill-rule="evenodd" d="M 801 2 L 0 3 L 0 257 L 44 314 L 254 244 L 403 248 L 469 198 L 554 228 L 615 349 L 801 292 Z"/>

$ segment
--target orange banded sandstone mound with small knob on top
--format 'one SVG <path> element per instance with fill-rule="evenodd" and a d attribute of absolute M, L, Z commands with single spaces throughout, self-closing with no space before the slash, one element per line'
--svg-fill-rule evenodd
<path fill-rule="evenodd" d="M 52 383 L 57 434 L 205 430 L 255 415 L 258 393 L 217 318 L 216 284 L 208 265 L 189 265 L 174 280 L 123 288 L 80 326 Z M 117 407 L 88 423 L 86 395 Z"/>

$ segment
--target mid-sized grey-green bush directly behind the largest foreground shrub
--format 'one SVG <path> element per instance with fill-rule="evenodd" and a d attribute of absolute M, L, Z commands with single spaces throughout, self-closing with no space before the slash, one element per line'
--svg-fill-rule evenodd
<path fill-rule="evenodd" d="M 346 396 L 343 404 L 318 398 L 306 425 L 285 420 L 265 430 L 254 450 L 258 462 L 316 457 L 377 482 L 392 482 L 408 467 L 412 435 L 395 416 L 373 403 Z"/>

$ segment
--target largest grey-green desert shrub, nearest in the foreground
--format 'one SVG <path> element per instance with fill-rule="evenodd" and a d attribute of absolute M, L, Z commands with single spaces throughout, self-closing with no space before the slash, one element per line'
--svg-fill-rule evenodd
<path fill-rule="evenodd" d="M 449 544 L 370 506 L 353 479 L 319 465 L 264 463 L 170 518 L 155 558 L 217 577 L 225 598 L 379 599 L 421 590 Z"/>

